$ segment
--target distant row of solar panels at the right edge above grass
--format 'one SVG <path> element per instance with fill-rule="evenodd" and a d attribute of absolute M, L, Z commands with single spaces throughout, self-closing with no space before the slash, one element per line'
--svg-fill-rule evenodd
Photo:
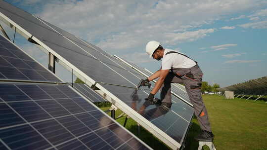
<path fill-rule="evenodd" d="M 267 76 L 243 83 L 219 88 L 220 91 L 234 91 L 235 94 L 267 95 Z"/>

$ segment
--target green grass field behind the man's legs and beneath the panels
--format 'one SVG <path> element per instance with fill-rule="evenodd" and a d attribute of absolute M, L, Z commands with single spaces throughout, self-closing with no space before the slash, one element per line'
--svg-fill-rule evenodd
<path fill-rule="evenodd" d="M 245 99 L 226 100 L 223 96 L 203 95 L 217 150 L 267 150 L 267 103 Z M 101 108 L 107 110 L 107 107 Z M 116 111 L 119 115 L 120 111 Z M 125 117 L 117 119 L 123 125 Z M 137 125 L 128 119 L 126 128 L 137 136 Z M 186 138 L 185 150 L 197 150 L 198 142 L 193 137 L 200 131 L 193 118 Z M 154 150 L 168 150 L 162 142 L 141 128 L 138 136 Z M 209 150 L 205 147 L 204 150 Z"/>

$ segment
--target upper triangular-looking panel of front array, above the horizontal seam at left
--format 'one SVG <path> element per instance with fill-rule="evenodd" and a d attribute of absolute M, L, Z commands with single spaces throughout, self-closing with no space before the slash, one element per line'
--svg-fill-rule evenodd
<path fill-rule="evenodd" d="M 2 36 L 0 36 L 0 78 L 61 82 Z"/>

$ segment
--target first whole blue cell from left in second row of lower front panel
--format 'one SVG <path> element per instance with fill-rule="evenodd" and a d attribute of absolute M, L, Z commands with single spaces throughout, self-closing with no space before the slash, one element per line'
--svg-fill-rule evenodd
<path fill-rule="evenodd" d="M 48 119 L 50 116 L 34 102 L 9 103 L 28 122 Z"/>

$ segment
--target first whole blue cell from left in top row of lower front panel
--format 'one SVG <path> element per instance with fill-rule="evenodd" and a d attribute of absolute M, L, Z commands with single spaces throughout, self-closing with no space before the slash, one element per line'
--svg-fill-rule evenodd
<path fill-rule="evenodd" d="M 24 93 L 26 93 L 33 100 L 52 99 L 43 90 L 36 85 L 17 85 Z"/>

